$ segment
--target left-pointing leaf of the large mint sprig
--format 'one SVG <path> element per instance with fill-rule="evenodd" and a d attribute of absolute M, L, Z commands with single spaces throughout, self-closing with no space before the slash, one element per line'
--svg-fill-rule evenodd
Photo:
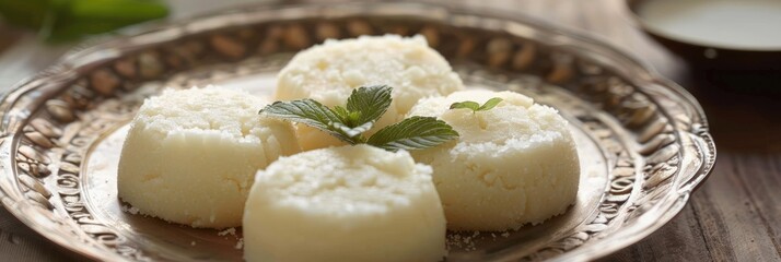
<path fill-rule="evenodd" d="M 350 133 L 334 128 L 345 126 L 336 112 L 313 99 L 275 102 L 261 109 L 259 114 L 319 129 L 350 144 L 358 143 Z"/>

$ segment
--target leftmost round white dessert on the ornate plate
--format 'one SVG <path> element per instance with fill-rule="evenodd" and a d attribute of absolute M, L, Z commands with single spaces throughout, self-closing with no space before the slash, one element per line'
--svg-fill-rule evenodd
<path fill-rule="evenodd" d="M 119 198 L 173 223 L 241 226 L 257 170 L 301 151 L 290 123 L 258 115 L 267 104 L 218 87 L 147 99 L 121 151 Z"/>

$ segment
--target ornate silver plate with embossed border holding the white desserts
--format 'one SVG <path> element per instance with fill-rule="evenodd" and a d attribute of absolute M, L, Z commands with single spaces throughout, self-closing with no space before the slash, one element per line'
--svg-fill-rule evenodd
<path fill-rule="evenodd" d="M 81 48 L 0 104 L 0 199 L 26 225 L 98 260 L 241 260 L 236 235 L 132 215 L 116 164 L 144 97 L 220 84 L 269 94 L 294 51 L 325 38 L 424 35 L 469 87 L 558 108 L 582 159 L 564 215 L 511 233 L 448 233 L 447 261 L 588 260 L 648 236 L 715 160 L 700 106 L 604 43 L 514 15 L 422 3 L 246 8 Z"/>

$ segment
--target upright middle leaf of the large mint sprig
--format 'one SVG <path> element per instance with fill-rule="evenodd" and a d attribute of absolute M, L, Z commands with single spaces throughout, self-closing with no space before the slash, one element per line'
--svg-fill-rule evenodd
<path fill-rule="evenodd" d="M 352 94 L 347 98 L 347 110 L 361 112 L 354 124 L 377 121 L 391 106 L 392 91 L 393 88 L 387 85 L 361 86 L 352 90 Z"/>

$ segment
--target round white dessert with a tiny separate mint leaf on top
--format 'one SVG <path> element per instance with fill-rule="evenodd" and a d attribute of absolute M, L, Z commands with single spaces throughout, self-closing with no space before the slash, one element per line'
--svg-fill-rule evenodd
<path fill-rule="evenodd" d="M 448 109 L 456 102 L 490 110 Z M 506 230 L 538 224 L 567 211 L 580 178 L 578 152 L 568 122 L 550 107 L 513 92 L 463 91 L 421 100 L 410 116 L 439 117 L 458 140 L 413 152 L 431 165 L 434 183 L 453 230 Z"/>

